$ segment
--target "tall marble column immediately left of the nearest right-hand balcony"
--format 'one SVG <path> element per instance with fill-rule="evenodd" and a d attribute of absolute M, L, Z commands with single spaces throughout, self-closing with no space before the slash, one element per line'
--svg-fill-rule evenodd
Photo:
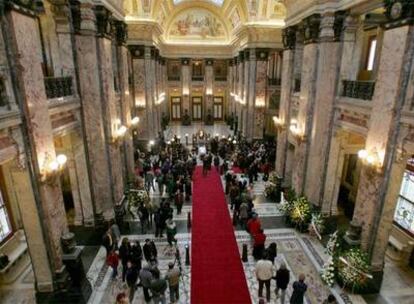
<path fill-rule="evenodd" d="M 337 15 L 335 20 L 334 13 L 327 13 L 322 16 L 320 24 L 316 95 L 312 131 L 308 138 L 309 154 L 305 181 L 305 195 L 318 206 L 322 204 L 334 122 L 341 55 L 340 31 L 334 32 L 334 24 L 341 24 L 340 18 L 341 15 Z"/>

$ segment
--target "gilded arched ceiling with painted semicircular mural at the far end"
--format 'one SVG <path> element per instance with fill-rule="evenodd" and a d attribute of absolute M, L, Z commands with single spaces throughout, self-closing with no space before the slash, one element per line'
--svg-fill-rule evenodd
<path fill-rule="evenodd" d="M 159 26 L 165 43 L 230 44 L 243 26 L 283 27 L 281 0 L 124 0 L 127 23 Z"/>

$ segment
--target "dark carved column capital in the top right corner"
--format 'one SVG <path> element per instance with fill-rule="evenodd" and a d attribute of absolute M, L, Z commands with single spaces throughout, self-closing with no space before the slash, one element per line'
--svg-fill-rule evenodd
<path fill-rule="evenodd" d="M 385 29 L 414 25 L 414 0 L 385 0 Z"/>

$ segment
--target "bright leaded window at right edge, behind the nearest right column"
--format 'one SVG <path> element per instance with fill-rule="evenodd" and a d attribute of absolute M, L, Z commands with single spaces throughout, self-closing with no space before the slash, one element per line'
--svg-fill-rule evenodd
<path fill-rule="evenodd" d="M 406 170 L 401 184 L 394 221 L 414 234 L 414 172 Z"/>

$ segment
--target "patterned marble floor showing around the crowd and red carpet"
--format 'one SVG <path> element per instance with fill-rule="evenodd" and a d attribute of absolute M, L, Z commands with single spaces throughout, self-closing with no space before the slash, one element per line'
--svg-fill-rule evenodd
<path fill-rule="evenodd" d="M 166 131 L 166 138 L 175 135 L 183 136 L 188 133 L 197 132 L 201 125 L 192 125 L 188 127 L 174 126 Z M 228 127 L 223 125 L 203 127 L 205 132 L 211 134 L 219 133 L 223 135 L 231 134 Z M 223 181 L 224 182 L 224 181 Z M 284 219 L 278 205 L 267 200 L 263 195 L 264 182 L 259 181 L 254 184 L 253 192 L 255 194 L 255 209 L 262 221 L 262 226 L 267 234 L 267 243 L 276 242 L 278 244 L 278 256 L 276 265 L 283 261 L 291 270 L 291 282 L 296 279 L 300 273 L 306 274 L 308 292 L 306 294 L 306 303 L 319 304 L 325 299 L 328 293 L 333 293 L 338 299 L 338 303 L 414 303 L 414 271 L 395 265 L 392 261 L 386 260 L 384 282 L 380 294 L 360 296 L 351 295 L 344 292 L 339 286 L 328 288 L 320 279 L 319 271 L 327 259 L 325 250 L 321 243 L 314 237 L 307 234 L 299 234 L 293 229 L 285 227 Z M 151 193 L 151 197 L 157 203 L 160 200 L 158 190 Z M 185 246 L 191 246 L 191 231 L 187 226 L 187 214 L 191 214 L 191 201 L 186 202 L 181 215 L 174 212 L 174 219 L 177 223 L 177 240 L 180 250 L 184 276 L 180 282 L 180 302 L 190 303 L 190 283 L 191 283 L 191 266 L 185 265 Z M 229 216 L 232 211 L 229 209 Z M 150 228 L 146 234 L 141 233 L 140 223 L 136 219 L 129 218 L 130 232 L 127 236 L 131 240 L 140 240 L 154 238 L 154 229 Z M 235 236 L 239 244 L 240 256 L 243 244 L 247 244 L 249 250 L 248 262 L 243 263 L 246 280 L 250 289 L 252 303 L 258 303 L 257 281 L 254 276 L 255 262 L 251 257 L 251 239 L 250 236 L 241 228 L 235 227 Z M 155 243 L 159 252 L 159 268 L 162 273 L 167 269 L 167 264 L 174 261 L 175 249 L 168 246 L 165 238 L 158 238 Z M 87 252 L 96 252 L 96 249 L 90 248 Z M 89 304 L 114 303 L 115 296 L 118 292 L 126 290 L 126 286 L 120 279 L 112 280 L 111 270 L 105 265 L 105 250 L 101 247 L 97 254 L 87 262 L 87 278 L 89 279 L 93 293 L 89 299 Z M 28 268 L 14 284 L 0 286 L 0 303 L 35 303 L 34 277 L 31 268 Z M 275 287 L 272 282 L 272 290 Z M 288 289 L 288 296 L 291 289 Z M 167 294 L 168 296 L 168 294 Z M 279 303 L 275 294 L 271 293 L 271 303 Z M 144 303 L 142 289 L 138 288 L 133 303 Z"/>

